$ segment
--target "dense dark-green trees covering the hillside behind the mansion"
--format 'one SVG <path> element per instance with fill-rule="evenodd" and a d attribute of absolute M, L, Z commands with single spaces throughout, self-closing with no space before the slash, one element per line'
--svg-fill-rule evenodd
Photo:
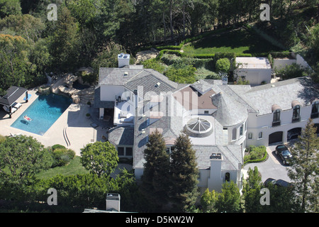
<path fill-rule="evenodd" d="M 114 56 L 120 51 L 134 54 L 161 45 L 158 50 L 168 48 L 181 55 L 181 45 L 211 31 L 223 33 L 225 27 L 247 23 L 255 23 L 256 31 L 276 38 L 274 44 L 306 56 L 313 69 L 318 62 L 317 0 L 266 1 L 270 21 L 260 21 L 257 0 L 58 0 L 57 21 L 49 21 L 51 3 L 0 1 L 0 94 L 12 85 L 43 84 L 45 73 L 91 66 L 97 74 L 99 67 L 116 65 Z M 237 43 L 232 45 L 237 48 Z M 212 56 L 209 52 L 196 57 Z"/>

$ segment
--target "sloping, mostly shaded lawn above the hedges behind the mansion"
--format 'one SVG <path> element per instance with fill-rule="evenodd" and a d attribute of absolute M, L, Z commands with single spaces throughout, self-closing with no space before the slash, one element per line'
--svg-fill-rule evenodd
<path fill-rule="evenodd" d="M 186 55 L 212 54 L 216 52 L 250 53 L 261 56 L 267 52 L 280 51 L 279 48 L 259 35 L 245 29 L 207 36 L 201 40 L 184 45 Z"/>

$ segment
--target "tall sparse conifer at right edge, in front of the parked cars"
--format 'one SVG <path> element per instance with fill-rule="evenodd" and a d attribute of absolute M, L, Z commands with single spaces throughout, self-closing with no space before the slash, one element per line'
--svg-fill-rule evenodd
<path fill-rule="evenodd" d="M 316 130 L 313 120 L 309 119 L 291 149 L 293 159 L 288 175 L 293 181 L 302 211 L 318 212 L 319 139 Z"/>

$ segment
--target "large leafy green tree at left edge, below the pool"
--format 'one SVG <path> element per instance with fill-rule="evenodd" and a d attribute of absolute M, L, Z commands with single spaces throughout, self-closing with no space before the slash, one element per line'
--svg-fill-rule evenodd
<path fill-rule="evenodd" d="M 19 135 L 4 140 L 0 144 L 1 199 L 26 199 L 35 174 L 51 165 L 51 153 L 35 138 Z"/>

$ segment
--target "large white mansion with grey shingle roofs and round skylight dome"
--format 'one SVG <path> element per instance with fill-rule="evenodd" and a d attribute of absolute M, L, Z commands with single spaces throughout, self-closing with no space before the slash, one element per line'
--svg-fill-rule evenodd
<path fill-rule="evenodd" d="M 286 143 L 308 118 L 319 125 L 318 89 L 309 77 L 255 87 L 214 79 L 177 84 L 155 70 L 130 65 L 129 58 L 118 55 L 118 68 L 100 69 L 94 107 L 113 123 L 108 140 L 119 157 L 133 158 L 137 179 L 148 135 L 155 130 L 162 133 L 167 152 L 182 131 L 187 133 L 196 150 L 198 187 L 220 191 L 230 180 L 242 187 L 245 148 Z"/>

